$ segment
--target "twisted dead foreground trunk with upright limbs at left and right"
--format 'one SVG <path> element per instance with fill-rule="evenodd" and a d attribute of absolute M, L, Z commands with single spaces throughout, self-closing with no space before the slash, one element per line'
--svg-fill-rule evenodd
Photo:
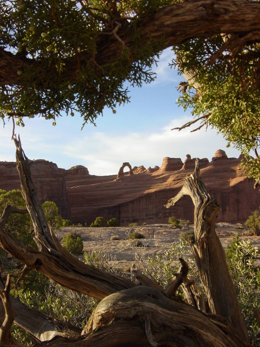
<path fill-rule="evenodd" d="M 208 237 L 213 237 L 213 226 L 215 215 L 219 206 L 211 201 L 211 198 L 204 190 L 204 185 L 200 179 L 198 163 L 194 172 L 186 179 L 184 188 L 177 195 L 176 201 L 184 193 L 189 192 L 189 182 L 193 189 L 193 201 L 196 205 L 196 244 L 193 249 L 196 253 L 196 260 L 199 264 L 200 274 L 205 286 L 209 286 L 210 307 L 215 311 L 222 309 L 222 315 L 205 314 L 197 308 L 185 303 L 175 296 L 178 286 L 187 287 L 186 297 L 190 296 L 190 303 L 207 311 L 205 303 L 199 303 L 200 293 L 186 283 L 188 267 L 185 262 L 175 274 L 172 283 L 165 289 L 151 279 L 145 278 L 138 270 L 132 269 L 140 282 L 139 286 L 134 283 L 109 273 L 104 273 L 95 268 L 81 263 L 75 257 L 66 252 L 60 245 L 58 239 L 47 226 L 37 193 L 33 186 L 29 163 L 21 149 L 20 141 L 15 141 L 17 146 L 17 167 L 20 174 L 21 189 L 25 198 L 27 209 L 31 215 L 35 228 L 35 239 L 38 250 L 25 247 L 13 239 L 4 230 L 4 223 L 11 212 L 15 209 L 8 206 L 0 218 L 0 245 L 11 253 L 14 257 L 25 264 L 25 271 L 34 269 L 41 271 L 46 276 L 61 283 L 64 287 L 72 288 L 86 295 L 91 295 L 103 300 L 98 304 L 92 314 L 84 335 L 81 337 L 57 337 L 43 342 L 41 346 L 88 346 L 88 347 L 128 347 L 128 346 L 165 346 L 165 347 L 249 347 L 243 321 L 239 321 L 240 313 L 237 306 L 233 307 L 233 302 L 226 303 L 226 310 L 218 301 L 222 299 L 214 296 L 214 290 L 225 291 L 217 280 L 224 276 L 218 272 L 211 262 L 211 252 L 215 251 L 218 256 L 224 256 L 214 243 L 207 241 Z M 192 180 L 196 184 L 192 186 Z M 188 187 L 188 188 L 187 188 Z M 198 192 L 197 192 L 198 189 Z M 197 195 L 196 195 L 197 194 Z M 215 225 L 215 224 L 214 224 Z M 209 244 L 209 245 L 208 245 Z M 201 250 L 202 245 L 203 248 Z M 208 252 L 205 254 L 205 252 Z M 201 258 L 200 253 L 201 252 Z M 214 260 L 216 261 L 215 257 Z M 205 266 L 203 265 L 205 261 Z M 211 271 L 210 266 L 213 266 Z M 223 270 L 224 269 L 224 270 Z M 217 273 L 215 273 L 215 272 Z M 222 266 L 221 271 L 225 271 Z M 226 276 L 226 275 L 225 275 Z M 125 287 L 122 290 L 122 287 Z M 232 289 L 232 288 L 231 288 Z M 233 293 L 233 292 L 232 292 Z M 229 294 L 232 298 L 232 294 Z M 189 302 L 189 300 L 188 300 Z M 197 303 L 196 303 L 197 302 Z M 220 308 L 219 308 L 220 307 Z M 228 312 L 229 315 L 226 313 Z M 219 314 L 219 312 L 217 312 Z M 237 319 L 235 319 L 237 318 Z M 238 331 L 239 324 L 241 331 Z M 243 328 L 243 329 L 242 329 Z"/>

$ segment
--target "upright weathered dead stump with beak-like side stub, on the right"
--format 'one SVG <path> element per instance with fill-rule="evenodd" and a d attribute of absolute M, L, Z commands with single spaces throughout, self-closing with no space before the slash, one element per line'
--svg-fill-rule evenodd
<path fill-rule="evenodd" d="M 206 291 L 210 311 L 230 320 L 237 335 L 249 342 L 235 288 L 228 272 L 225 253 L 215 231 L 220 206 L 210 197 L 201 179 L 198 159 L 194 173 L 186 177 L 181 191 L 165 206 L 174 206 L 184 195 L 191 197 L 195 207 L 195 243 L 190 242 L 190 246 Z"/>

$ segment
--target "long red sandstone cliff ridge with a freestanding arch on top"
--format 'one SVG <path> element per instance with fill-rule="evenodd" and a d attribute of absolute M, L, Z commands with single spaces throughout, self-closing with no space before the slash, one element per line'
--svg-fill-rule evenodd
<path fill-rule="evenodd" d="M 260 205 L 260 192 L 253 189 L 254 181 L 244 174 L 241 157 L 227 158 L 218 150 L 209 162 L 199 159 L 205 185 L 222 207 L 218 221 L 244 222 Z M 38 159 L 30 161 L 32 178 L 40 200 L 54 201 L 63 218 L 89 226 L 98 216 L 117 218 L 121 226 L 130 222 L 139 224 L 167 223 L 172 215 L 193 222 L 194 208 L 190 198 L 166 209 L 164 204 L 181 189 L 185 177 L 194 170 L 195 158 L 187 154 L 180 158 L 163 159 L 159 168 L 128 166 L 130 173 L 118 175 L 90 175 L 84 166 L 69 170 L 55 163 Z M 0 188 L 7 191 L 20 188 L 15 162 L 0 162 Z M 86 223 L 86 224 L 85 224 Z"/>

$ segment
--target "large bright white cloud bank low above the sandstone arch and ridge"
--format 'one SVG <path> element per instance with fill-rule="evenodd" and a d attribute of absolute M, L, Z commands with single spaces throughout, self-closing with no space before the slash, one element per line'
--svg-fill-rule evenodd
<path fill-rule="evenodd" d="M 226 150 L 225 140 L 215 130 L 208 129 L 205 132 L 201 129 L 195 133 L 190 133 L 190 129 L 180 132 L 170 130 L 190 120 L 191 117 L 177 118 L 152 134 L 111 135 L 98 132 L 63 144 L 59 150 L 85 165 L 92 175 L 116 174 L 125 161 L 132 166 L 144 165 L 147 168 L 161 166 L 165 156 L 184 160 L 186 154 L 191 154 L 192 158 L 207 157 L 211 160 L 216 150 Z M 228 156 L 239 156 L 239 152 L 234 149 L 226 152 Z"/>

